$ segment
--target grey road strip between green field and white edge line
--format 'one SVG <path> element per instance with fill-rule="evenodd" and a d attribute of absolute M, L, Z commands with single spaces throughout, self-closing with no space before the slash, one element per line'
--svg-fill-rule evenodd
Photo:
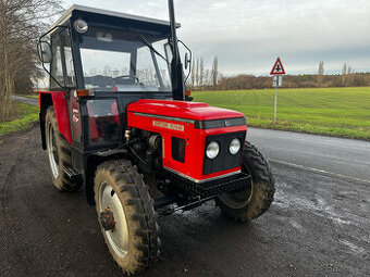
<path fill-rule="evenodd" d="M 370 185 L 369 141 L 258 128 L 249 128 L 247 138 L 271 162 Z"/>

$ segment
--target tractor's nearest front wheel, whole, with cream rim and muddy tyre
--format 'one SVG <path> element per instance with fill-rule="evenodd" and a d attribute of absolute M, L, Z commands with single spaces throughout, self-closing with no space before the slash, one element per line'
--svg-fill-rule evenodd
<path fill-rule="evenodd" d="M 148 187 L 127 160 L 97 167 L 96 210 L 109 251 L 126 275 L 138 274 L 157 262 L 159 226 Z"/>

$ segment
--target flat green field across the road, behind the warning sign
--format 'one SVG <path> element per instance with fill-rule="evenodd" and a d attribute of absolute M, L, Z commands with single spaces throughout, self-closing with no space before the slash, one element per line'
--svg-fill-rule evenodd
<path fill-rule="evenodd" d="M 195 101 L 239 111 L 249 126 L 370 140 L 370 88 L 194 91 Z"/>

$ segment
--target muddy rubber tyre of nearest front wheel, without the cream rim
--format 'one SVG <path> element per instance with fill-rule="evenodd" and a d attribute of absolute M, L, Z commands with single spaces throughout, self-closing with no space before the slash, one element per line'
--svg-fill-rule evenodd
<path fill-rule="evenodd" d="M 158 261 L 160 253 L 160 228 L 157 224 L 152 199 L 143 177 L 130 161 L 112 160 L 104 162 L 97 167 L 96 176 L 101 172 L 108 172 L 113 177 L 119 187 L 116 193 L 124 196 L 125 203 L 123 205 L 130 205 L 134 211 L 130 214 L 131 221 L 128 222 L 137 223 L 137 226 L 135 224 L 128 226 L 128 228 L 133 228 L 133 234 L 135 234 L 133 236 L 134 250 L 128 253 L 127 257 L 131 259 L 130 264 L 125 264 L 123 267 L 123 263 L 120 263 L 116 259 L 115 261 L 126 275 L 141 273 Z M 98 203 L 98 185 L 95 181 L 96 203 Z M 98 206 L 97 212 L 99 212 Z"/>

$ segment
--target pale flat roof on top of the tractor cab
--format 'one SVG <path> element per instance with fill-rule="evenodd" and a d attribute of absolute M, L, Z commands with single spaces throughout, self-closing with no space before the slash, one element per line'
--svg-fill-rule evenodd
<path fill-rule="evenodd" d="M 113 11 L 107 11 L 102 9 L 96 9 L 85 5 L 78 5 L 74 4 L 69 10 L 65 11 L 65 13 L 50 27 L 52 29 L 53 27 L 58 25 L 63 25 L 65 22 L 67 22 L 71 17 L 79 17 L 79 16 L 88 16 L 89 18 L 94 17 L 104 17 L 104 20 L 111 20 L 114 25 L 124 25 L 125 23 L 131 24 L 146 24 L 146 25 L 157 25 L 159 28 L 169 28 L 170 22 L 169 21 L 162 21 L 157 18 L 150 18 L 139 15 L 133 15 L 127 13 L 120 13 L 120 12 L 113 12 Z M 121 20 L 121 21 L 120 21 Z M 176 27 L 178 28 L 181 26 L 180 23 L 176 23 Z"/>

